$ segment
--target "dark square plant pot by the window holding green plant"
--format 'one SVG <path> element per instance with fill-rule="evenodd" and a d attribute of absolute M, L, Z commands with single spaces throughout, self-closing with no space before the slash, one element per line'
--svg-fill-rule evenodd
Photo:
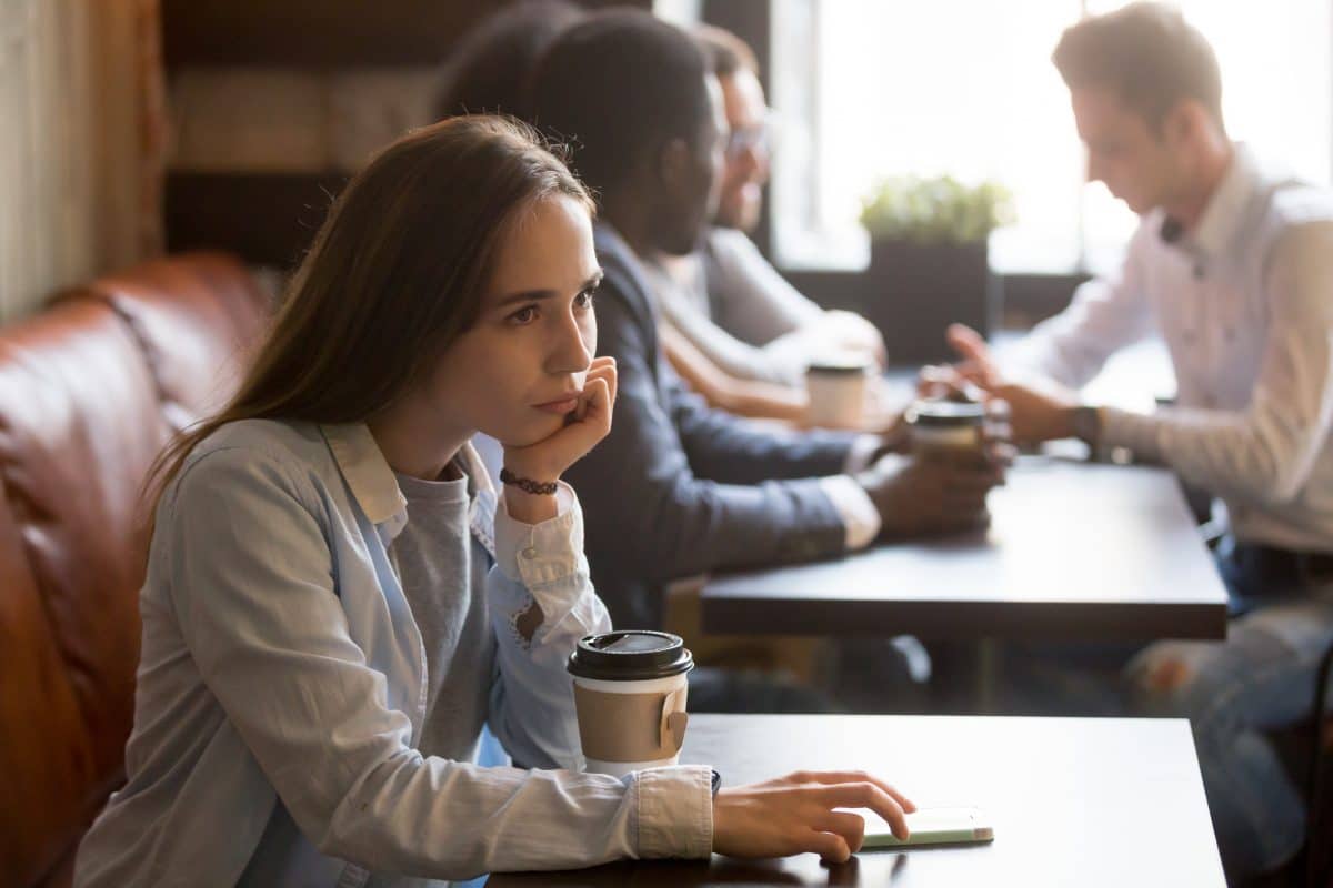
<path fill-rule="evenodd" d="M 862 310 L 884 334 L 890 363 L 952 359 L 945 329 L 966 324 L 990 335 L 1001 300 L 1000 278 L 990 273 L 985 241 L 870 241 Z"/>

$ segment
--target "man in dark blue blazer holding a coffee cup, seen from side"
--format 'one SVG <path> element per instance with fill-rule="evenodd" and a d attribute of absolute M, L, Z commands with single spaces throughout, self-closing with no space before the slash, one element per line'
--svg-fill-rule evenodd
<path fill-rule="evenodd" d="M 680 578 L 974 527 L 1002 454 L 933 461 L 890 453 L 900 442 L 881 435 L 756 429 L 688 393 L 663 358 L 643 257 L 697 248 L 724 162 L 721 93 L 700 47 L 647 13 L 604 12 L 565 31 L 531 83 L 535 122 L 575 145 L 600 200 L 600 347 L 617 362 L 620 409 L 576 471 L 596 479 L 588 558 L 617 622 L 660 626 Z"/>

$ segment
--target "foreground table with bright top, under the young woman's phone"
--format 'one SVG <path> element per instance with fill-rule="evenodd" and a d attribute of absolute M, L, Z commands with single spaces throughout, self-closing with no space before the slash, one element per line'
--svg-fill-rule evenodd
<path fill-rule="evenodd" d="M 1213 888 L 1225 884 L 1189 726 L 1177 719 L 697 715 L 685 762 L 728 784 L 798 768 L 864 768 L 921 805 L 977 805 L 989 845 L 865 851 L 842 865 L 625 861 L 496 875 L 507 885 Z"/>

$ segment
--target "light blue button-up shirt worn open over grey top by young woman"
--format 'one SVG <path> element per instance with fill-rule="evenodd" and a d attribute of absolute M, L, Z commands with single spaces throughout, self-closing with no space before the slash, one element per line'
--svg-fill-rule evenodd
<path fill-rule="evenodd" d="M 388 556 L 407 509 L 365 426 L 244 421 L 211 435 L 157 507 L 128 781 L 84 839 L 76 884 L 232 885 L 255 864 L 267 884 L 341 888 L 372 871 L 706 856 L 709 770 L 577 772 L 564 662 L 609 619 L 568 486 L 560 502 L 536 526 L 489 485 L 472 507 L 496 558 L 488 722 L 516 759 L 561 770 L 480 768 L 416 750 L 427 660 Z M 533 603 L 544 618 L 528 640 L 516 620 Z"/>

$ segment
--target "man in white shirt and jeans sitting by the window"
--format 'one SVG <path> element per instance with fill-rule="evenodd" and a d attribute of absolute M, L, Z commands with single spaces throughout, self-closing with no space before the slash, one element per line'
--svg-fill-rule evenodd
<path fill-rule="evenodd" d="M 1141 224 L 1120 274 L 1080 288 L 1014 362 L 950 330 L 957 369 L 1009 402 L 1017 438 L 1128 447 L 1225 503 L 1228 640 L 1150 646 L 1128 678 L 1146 711 L 1190 718 L 1224 863 L 1248 877 L 1300 849 L 1300 792 L 1262 731 L 1310 718 L 1333 643 L 1333 196 L 1228 138 L 1216 57 L 1178 12 L 1086 19 L 1053 60 L 1088 177 Z M 1150 333 L 1170 350 L 1176 406 L 1081 401 Z"/>

